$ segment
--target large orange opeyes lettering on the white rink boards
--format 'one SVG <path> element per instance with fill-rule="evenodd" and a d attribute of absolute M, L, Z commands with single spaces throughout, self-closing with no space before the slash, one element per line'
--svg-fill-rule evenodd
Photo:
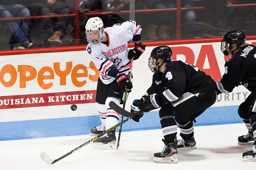
<path fill-rule="evenodd" d="M 72 62 L 66 62 L 65 70 L 60 69 L 60 62 L 53 63 L 53 67 L 44 66 L 38 72 L 35 67 L 31 65 L 18 65 L 18 69 L 16 70 L 15 66 L 11 64 L 7 64 L 1 68 L 0 71 L 0 81 L 1 84 L 5 87 L 11 87 L 15 83 L 19 83 L 19 88 L 26 88 L 26 82 L 36 80 L 38 85 L 47 90 L 53 86 L 53 83 L 50 82 L 48 84 L 44 83 L 44 80 L 52 80 L 54 79 L 55 74 L 60 77 L 60 86 L 64 86 L 67 84 L 66 77 L 71 74 L 71 81 L 76 87 L 82 87 L 86 84 L 86 80 L 78 81 L 78 77 L 89 77 L 89 80 L 97 82 L 99 77 L 99 70 L 95 67 L 94 63 L 91 61 L 89 64 L 89 68 L 87 68 L 83 64 L 78 64 L 73 67 Z M 87 69 L 92 69 L 95 74 L 88 74 Z M 78 73 L 78 70 L 83 70 L 83 73 Z M 29 73 L 29 76 L 26 75 L 26 72 Z M 48 72 L 50 75 L 44 75 Z M 4 80 L 5 74 L 9 73 L 11 78 L 9 81 Z M 54 74 L 55 73 L 55 74 Z M 17 77 L 19 74 L 19 82 L 17 81 Z"/>

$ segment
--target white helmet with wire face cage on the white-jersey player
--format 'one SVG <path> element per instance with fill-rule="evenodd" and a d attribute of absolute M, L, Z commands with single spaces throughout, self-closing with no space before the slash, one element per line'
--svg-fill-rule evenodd
<path fill-rule="evenodd" d="M 98 44 L 103 39 L 104 26 L 99 17 L 90 18 L 85 26 L 87 41 L 91 44 Z"/>

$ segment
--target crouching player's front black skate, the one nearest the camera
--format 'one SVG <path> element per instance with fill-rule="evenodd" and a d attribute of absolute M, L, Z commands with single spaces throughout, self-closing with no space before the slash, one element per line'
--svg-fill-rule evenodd
<path fill-rule="evenodd" d="M 176 139 L 174 143 L 167 143 L 164 139 L 162 139 L 165 147 L 162 152 L 158 152 L 154 154 L 154 161 L 160 163 L 177 163 L 177 147 L 176 147 Z"/>

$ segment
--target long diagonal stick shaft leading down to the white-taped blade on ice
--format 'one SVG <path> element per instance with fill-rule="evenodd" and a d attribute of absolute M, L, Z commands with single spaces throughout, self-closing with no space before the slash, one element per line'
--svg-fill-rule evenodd
<path fill-rule="evenodd" d="M 139 112 L 138 112 L 138 114 L 139 114 Z M 103 133 L 99 134 L 98 136 L 95 136 L 93 139 L 91 139 L 91 140 L 87 141 L 86 143 L 80 145 L 79 147 L 77 147 L 74 150 L 68 152 L 67 154 L 63 155 L 62 157 L 60 157 L 58 159 L 55 159 L 55 160 L 53 160 L 50 163 L 48 163 L 48 162 L 46 162 L 46 163 L 52 165 L 53 163 L 56 163 L 56 162 L 60 161 L 61 159 L 67 157 L 68 155 L 73 154 L 74 152 L 78 151 L 79 149 L 81 149 L 82 147 L 86 146 L 87 144 L 93 142 L 94 140 L 98 139 L 99 137 L 105 135 L 106 133 L 112 131 L 113 129 L 117 128 L 118 126 L 120 126 L 120 125 L 124 124 L 125 122 L 127 122 L 128 120 L 132 119 L 135 115 L 137 115 L 137 114 L 134 114 L 131 117 L 128 117 L 127 119 L 125 119 L 124 121 L 121 121 L 120 123 L 114 125 L 113 127 L 109 128 L 108 130 L 104 131 Z"/>

